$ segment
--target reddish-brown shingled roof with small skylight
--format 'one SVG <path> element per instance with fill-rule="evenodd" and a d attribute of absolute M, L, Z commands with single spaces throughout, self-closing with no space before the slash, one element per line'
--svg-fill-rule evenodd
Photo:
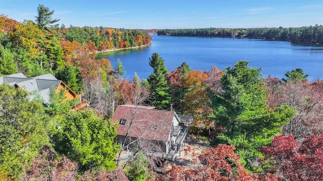
<path fill-rule="evenodd" d="M 113 121 L 118 123 L 118 135 L 167 142 L 175 116 L 174 111 L 155 110 L 153 107 L 117 106 Z M 133 118 L 133 119 L 132 119 Z M 129 128 L 130 127 L 130 128 Z"/>

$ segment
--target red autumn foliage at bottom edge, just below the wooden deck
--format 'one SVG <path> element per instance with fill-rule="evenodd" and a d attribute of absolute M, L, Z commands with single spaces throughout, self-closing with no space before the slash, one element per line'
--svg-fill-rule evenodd
<path fill-rule="evenodd" d="M 247 172 L 233 150 L 234 146 L 219 144 L 216 148 L 196 154 L 188 147 L 186 154 L 191 154 L 192 166 L 187 169 L 173 166 L 158 180 L 278 180 L 270 173 L 259 177 L 257 174 Z"/>

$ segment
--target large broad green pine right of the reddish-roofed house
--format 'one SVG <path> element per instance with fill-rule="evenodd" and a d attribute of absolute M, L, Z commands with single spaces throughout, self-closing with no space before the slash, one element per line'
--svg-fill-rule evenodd
<path fill-rule="evenodd" d="M 261 155 L 260 148 L 271 143 L 295 110 L 287 105 L 268 109 L 261 69 L 248 67 L 245 60 L 225 68 L 221 87 L 223 91 L 211 95 L 214 121 L 225 129 L 217 139 L 235 145 L 242 162 L 251 169 L 250 162 Z"/>

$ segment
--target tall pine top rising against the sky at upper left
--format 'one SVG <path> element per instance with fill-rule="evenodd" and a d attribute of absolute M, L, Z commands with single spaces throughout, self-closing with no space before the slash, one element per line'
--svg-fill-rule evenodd
<path fill-rule="evenodd" d="M 49 8 L 44 5 L 40 5 L 37 7 L 38 16 L 36 16 L 36 23 L 40 29 L 46 28 L 47 25 L 56 23 L 60 21 L 60 19 L 51 19 L 51 16 L 54 14 L 54 11 L 49 11 Z"/>

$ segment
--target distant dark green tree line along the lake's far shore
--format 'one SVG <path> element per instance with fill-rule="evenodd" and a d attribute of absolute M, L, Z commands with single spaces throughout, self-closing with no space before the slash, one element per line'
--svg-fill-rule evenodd
<path fill-rule="evenodd" d="M 315 25 L 300 28 L 199 28 L 158 30 L 157 35 L 199 36 L 199 37 L 237 37 L 267 40 L 282 40 L 292 43 L 323 44 L 323 26 Z"/>

